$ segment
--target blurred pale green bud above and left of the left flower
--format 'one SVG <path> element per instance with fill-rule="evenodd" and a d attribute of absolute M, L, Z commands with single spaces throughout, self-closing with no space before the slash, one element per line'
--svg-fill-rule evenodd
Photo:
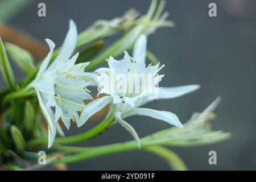
<path fill-rule="evenodd" d="M 11 59 L 13 59 L 24 72 L 28 74 L 35 69 L 34 57 L 30 52 L 11 43 L 5 43 L 5 47 Z"/>

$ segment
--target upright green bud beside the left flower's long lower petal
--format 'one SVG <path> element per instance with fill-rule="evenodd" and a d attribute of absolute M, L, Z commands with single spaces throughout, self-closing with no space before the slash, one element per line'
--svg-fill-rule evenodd
<path fill-rule="evenodd" d="M 25 130 L 30 132 L 34 126 L 34 119 L 35 119 L 35 110 L 32 106 L 31 102 L 26 101 L 25 104 L 25 113 L 24 113 L 24 127 Z"/>

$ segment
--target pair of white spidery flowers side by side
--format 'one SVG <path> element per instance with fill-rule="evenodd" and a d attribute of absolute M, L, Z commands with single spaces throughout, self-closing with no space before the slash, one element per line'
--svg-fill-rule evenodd
<path fill-rule="evenodd" d="M 46 42 L 50 51 L 30 87 L 36 90 L 39 105 L 48 123 L 48 147 L 52 146 L 57 130 L 63 133 L 59 125 L 60 118 L 67 129 L 71 121 L 80 127 L 108 104 L 113 108 L 115 121 L 133 135 L 139 147 L 138 134 L 123 120 L 131 115 L 146 115 L 183 127 L 177 116 L 170 111 L 141 107 L 152 100 L 176 98 L 199 89 L 199 85 L 158 87 L 164 77 L 159 75 L 159 71 L 164 65 L 160 66 L 158 63 L 146 66 L 146 35 L 139 36 L 134 45 L 133 56 L 126 51 L 122 60 L 115 60 L 110 56 L 107 59 L 109 68 L 99 68 L 93 73 L 84 71 L 89 62 L 76 64 L 79 53 L 72 56 L 77 42 L 77 28 L 72 20 L 59 55 L 54 60 L 52 53 L 55 44 L 49 39 Z M 53 61 L 49 64 L 51 60 Z M 98 86 L 98 95 L 104 96 L 93 100 L 88 86 L 95 84 Z M 93 101 L 85 105 L 85 100 Z"/>

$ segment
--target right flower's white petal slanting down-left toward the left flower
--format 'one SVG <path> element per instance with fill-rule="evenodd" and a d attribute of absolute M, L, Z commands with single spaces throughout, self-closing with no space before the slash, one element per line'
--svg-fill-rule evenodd
<path fill-rule="evenodd" d="M 82 113 L 77 122 L 77 126 L 80 127 L 84 125 L 84 123 L 95 113 L 100 111 L 103 107 L 105 107 L 110 102 L 110 96 L 105 96 L 101 98 L 97 98 L 96 100 L 90 102 L 82 109 Z"/>

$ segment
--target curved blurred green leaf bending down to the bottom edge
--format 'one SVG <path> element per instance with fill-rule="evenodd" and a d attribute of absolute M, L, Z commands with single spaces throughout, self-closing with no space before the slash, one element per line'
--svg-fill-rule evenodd
<path fill-rule="evenodd" d="M 183 160 L 179 157 L 179 155 L 177 155 L 174 151 L 171 151 L 166 147 L 149 146 L 143 149 L 146 151 L 150 151 L 165 159 L 170 165 L 170 167 L 175 171 L 187 171 L 188 169 Z"/>

